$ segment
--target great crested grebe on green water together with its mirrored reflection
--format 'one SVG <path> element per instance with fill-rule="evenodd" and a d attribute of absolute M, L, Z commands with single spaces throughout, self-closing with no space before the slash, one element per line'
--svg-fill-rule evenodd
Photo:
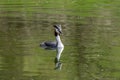
<path fill-rule="evenodd" d="M 60 62 L 60 56 L 64 49 L 64 45 L 60 39 L 60 35 L 62 33 L 61 25 L 54 25 L 54 35 L 56 41 L 46 41 L 40 44 L 40 46 L 44 49 L 48 50 L 56 50 L 56 57 L 55 57 L 55 69 L 61 69 L 62 63 Z"/>

